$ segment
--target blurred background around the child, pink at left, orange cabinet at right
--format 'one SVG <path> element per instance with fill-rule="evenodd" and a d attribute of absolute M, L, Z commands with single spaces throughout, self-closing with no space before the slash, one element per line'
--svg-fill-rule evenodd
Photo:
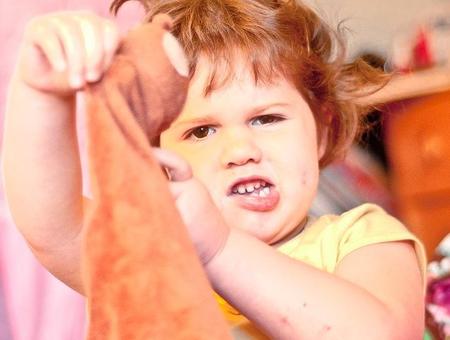
<path fill-rule="evenodd" d="M 305 2 L 332 27 L 343 23 L 349 61 L 363 57 L 394 72 L 391 84 L 368 99 L 376 107 L 367 118 L 371 131 L 345 160 L 323 171 L 311 214 L 341 213 L 374 202 L 416 233 L 430 261 L 425 337 L 444 339 L 450 336 L 450 240 L 444 240 L 450 232 L 450 1 Z M 108 4 L 0 2 L 0 122 L 26 22 L 55 10 L 108 15 Z M 123 31 L 140 14 L 133 3 L 122 11 Z M 0 192 L 0 340 L 78 340 L 84 324 L 82 297 L 34 260 Z"/>

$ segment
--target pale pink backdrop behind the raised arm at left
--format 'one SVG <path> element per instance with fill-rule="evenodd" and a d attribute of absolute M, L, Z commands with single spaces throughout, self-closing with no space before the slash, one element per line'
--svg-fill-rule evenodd
<path fill-rule="evenodd" d="M 107 15 L 108 4 L 103 0 L 0 1 L 0 137 L 8 82 L 26 23 L 36 15 L 68 9 Z M 121 15 L 123 29 L 135 13 Z M 14 227 L 0 185 L 0 340 L 79 340 L 84 337 L 84 324 L 83 297 L 36 261 Z"/>

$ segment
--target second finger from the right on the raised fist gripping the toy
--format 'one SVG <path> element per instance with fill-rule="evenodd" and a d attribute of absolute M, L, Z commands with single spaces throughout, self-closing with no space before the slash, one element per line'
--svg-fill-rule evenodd
<path fill-rule="evenodd" d="M 77 15 L 74 19 L 78 22 L 83 37 L 85 79 L 90 82 L 97 81 L 102 75 L 105 57 L 101 21 L 93 14 Z"/>

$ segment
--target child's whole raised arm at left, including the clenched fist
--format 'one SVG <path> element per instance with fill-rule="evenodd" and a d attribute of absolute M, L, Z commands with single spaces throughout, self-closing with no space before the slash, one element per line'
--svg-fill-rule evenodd
<path fill-rule="evenodd" d="M 27 26 L 10 83 L 3 141 L 7 200 L 39 260 L 81 291 L 81 170 L 75 92 L 96 81 L 118 45 L 110 21 L 55 13 Z"/>

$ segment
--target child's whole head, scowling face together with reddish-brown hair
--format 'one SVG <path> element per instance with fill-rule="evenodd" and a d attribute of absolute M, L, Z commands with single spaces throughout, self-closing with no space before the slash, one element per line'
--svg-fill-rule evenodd
<path fill-rule="evenodd" d="M 319 165 L 355 136 L 353 99 L 369 73 L 343 65 L 331 30 L 296 1 L 141 1 L 148 20 L 172 16 L 190 61 L 161 146 L 188 160 L 228 224 L 284 239 L 308 212 Z"/>

